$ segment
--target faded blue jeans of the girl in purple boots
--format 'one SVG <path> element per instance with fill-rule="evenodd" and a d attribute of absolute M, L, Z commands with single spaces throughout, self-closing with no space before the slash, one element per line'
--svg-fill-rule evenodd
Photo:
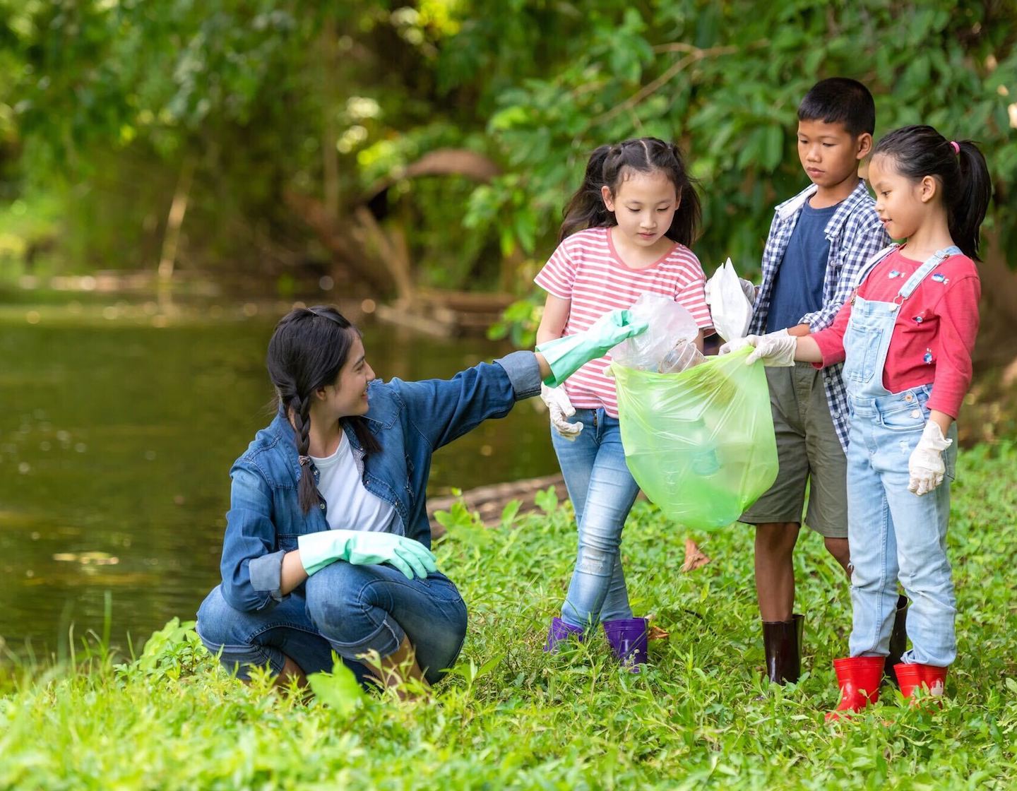
<path fill-rule="evenodd" d="M 583 423 L 575 440 L 551 429 L 579 528 L 576 569 L 561 619 L 586 628 L 598 620 L 633 617 L 621 570 L 621 529 L 639 484 L 625 466 L 617 418 L 602 409 L 578 409 L 570 422 Z"/>

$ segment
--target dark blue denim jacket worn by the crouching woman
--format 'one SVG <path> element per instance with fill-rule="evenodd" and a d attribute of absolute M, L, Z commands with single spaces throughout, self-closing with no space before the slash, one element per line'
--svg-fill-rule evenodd
<path fill-rule="evenodd" d="M 365 488 L 396 508 L 394 532 L 429 547 L 425 491 L 431 453 L 487 418 L 504 417 L 517 401 L 539 391 L 532 352 L 514 352 L 447 380 L 371 382 L 365 419 L 381 450 L 365 459 L 353 429 L 345 424 L 344 429 Z M 297 548 L 298 536 L 328 530 L 324 502 L 307 514 L 300 509 L 301 470 L 293 436 L 280 412 L 230 470 L 221 569 L 223 596 L 238 610 L 262 610 L 282 601 L 283 555 Z"/>

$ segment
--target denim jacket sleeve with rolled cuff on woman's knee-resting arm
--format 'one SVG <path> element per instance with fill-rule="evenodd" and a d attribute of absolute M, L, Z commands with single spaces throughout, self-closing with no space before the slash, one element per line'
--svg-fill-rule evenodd
<path fill-rule="evenodd" d="M 274 607 L 283 600 L 284 550 L 276 549 L 272 490 L 256 468 L 238 462 L 223 538 L 223 598 L 243 612 Z"/>

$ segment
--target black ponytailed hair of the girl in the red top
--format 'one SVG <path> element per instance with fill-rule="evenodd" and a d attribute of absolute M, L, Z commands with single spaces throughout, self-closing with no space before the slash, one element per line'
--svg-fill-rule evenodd
<path fill-rule="evenodd" d="M 978 229 L 985 219 L 993 184 L 989 166 L 971 140 L 951 141 L 931 126 L 903 126 L 884 135 L 873 157 L 888 157 L 902 176 L 934 177 L 943 190 L 950 236 L 964 255 L 978 258 Z"/>

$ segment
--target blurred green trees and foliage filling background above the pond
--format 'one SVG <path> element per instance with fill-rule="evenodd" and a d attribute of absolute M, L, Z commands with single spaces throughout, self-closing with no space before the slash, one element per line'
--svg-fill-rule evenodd
<path fill-rule="evenodd" d="M 0 261 L 525 295 L 589 150 L 656 135 L 700 180 L 704 266 L 750 271 L 830 75 L 871 87 L 877 136 L 982 143 L 1014 260 L 1015 22 L 1012 0 L 0 0 Z"/>

